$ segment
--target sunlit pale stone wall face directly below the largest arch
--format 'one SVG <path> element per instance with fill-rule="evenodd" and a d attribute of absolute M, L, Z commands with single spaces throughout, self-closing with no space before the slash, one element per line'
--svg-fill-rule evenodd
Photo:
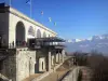
<path fill-rule="evenodd" d="M 22 81 L 35 73 L 36 51 L 16 50 L 16 81 Z"/>

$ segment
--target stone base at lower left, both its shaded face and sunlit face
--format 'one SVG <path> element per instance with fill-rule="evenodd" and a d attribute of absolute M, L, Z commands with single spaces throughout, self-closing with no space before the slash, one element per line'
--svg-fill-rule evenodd
<path fill-rule="evenodd" d="M 5 55 L 5 58 L 0 60 L 0 81 L 22 81 L 35 73 L 36 51 L 29 51 L 27 48 L 5 51 L 0 54 Z"/>

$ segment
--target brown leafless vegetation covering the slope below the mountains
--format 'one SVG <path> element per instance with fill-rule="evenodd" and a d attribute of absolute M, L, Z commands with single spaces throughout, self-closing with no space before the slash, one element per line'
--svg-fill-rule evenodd
<path fill-rule="evenodd" d="M 86 66 L 92 69 L 91 81 L 108 81 L 108 57 L 96 51 L 91 54 L 76 52 L 73 54 L 79 66 Z"/>

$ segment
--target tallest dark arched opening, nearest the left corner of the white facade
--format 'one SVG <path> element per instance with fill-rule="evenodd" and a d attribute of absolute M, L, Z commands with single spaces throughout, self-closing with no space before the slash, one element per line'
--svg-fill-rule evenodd
<path fill-rule="evenodd" d="M 25 26 L 22 22 L 16 25 L 16 46 L 23 46 L 25 42 Z"/>

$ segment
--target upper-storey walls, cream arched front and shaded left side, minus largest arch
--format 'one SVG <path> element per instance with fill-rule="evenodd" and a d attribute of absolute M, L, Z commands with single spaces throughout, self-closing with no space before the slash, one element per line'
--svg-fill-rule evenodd
<path fill-rule="evenodd" d="M 44 32 L 46 37 L 55 37 L 57 35 L 56 32 L 35 22 L 33 19 L 30 19 L 15 9 L 8 8 L 8 11 L 5 13 L 0 13 L 0 33 L 2 33 L 2 38 L 4 39 L 6 45 L 12 43 L 13 41 L 14 43 L 16 43 L 16 28 L 19 27 L 17 26 L 18 23 L 22 24 L 22 27 L 24 27 L 25 30 L 23 31 L 21 29 L 21 35 L 22 32 L 25 33 L 24 41 L 27 41 L 28 38 L 37 38 L 37 30 L 40 30 L 41 37 L 44 36 Z M 30 27 L 31 35 L 29 33 Z"/>

